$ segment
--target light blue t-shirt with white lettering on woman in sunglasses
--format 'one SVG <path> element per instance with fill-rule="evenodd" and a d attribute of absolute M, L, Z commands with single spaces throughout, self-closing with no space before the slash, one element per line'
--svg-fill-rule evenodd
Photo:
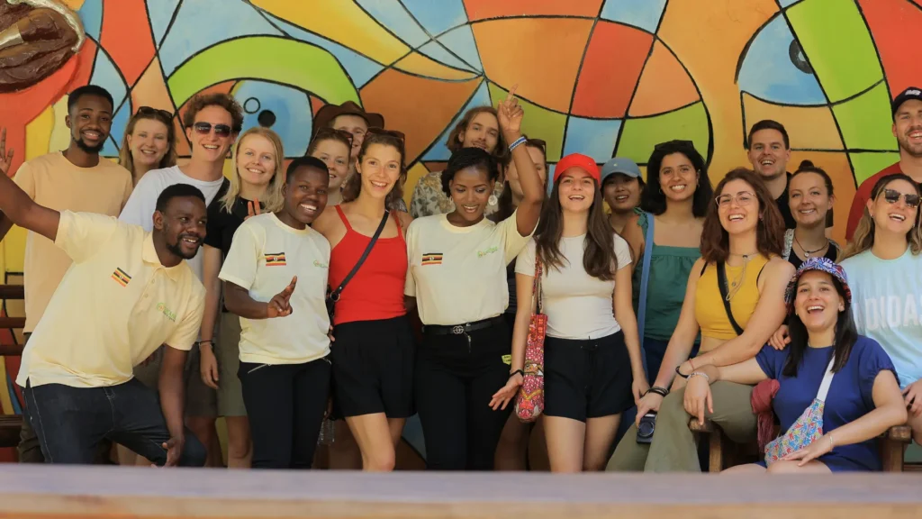
<path fill-rule="evenodd" d="M 881 343 L 893 360 L 900 389 L 922 379 L 922 254 L 897 259 L 870 250 L 842 261 L 852 289 L 858 333 Z"/>

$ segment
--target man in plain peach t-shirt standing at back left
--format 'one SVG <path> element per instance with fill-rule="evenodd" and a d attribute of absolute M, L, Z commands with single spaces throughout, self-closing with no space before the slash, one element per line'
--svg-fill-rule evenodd
<path fill-rule="evenodd" d="M 42 206 L 54 211 L 86 211 L 118 216 L 131 195 L 131 174 L 112 161 L 100 159 L 102 145 L 112 127 L 112 96 L 96 85 L 79 87 L 67 97 L 65 125 L 70 145 L 65 151 L 41 155 L 19 166 L 15 182 Z M 0 135 L 6 149 L 6 130 Z M 12 151 L 10 151 L 12 152 Z M 0 240 L 13 222 L 0 215 Z M 28 344 L 32 331 L 45 313 L 48 301 L 72 263 L 51 240 L 30 231 L 26 235 L 23 274 L 26 291 Z M 20 431 L 19 461 L 41 463 L 38 440 L 26 424 Z M 108 458 L 102 453 L 102 459 Z"/>

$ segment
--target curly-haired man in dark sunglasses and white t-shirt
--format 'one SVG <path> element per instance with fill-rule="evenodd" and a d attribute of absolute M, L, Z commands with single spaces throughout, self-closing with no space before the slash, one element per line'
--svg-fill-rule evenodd
<path fill-rule="evenodd" d="M 150 231 L 151 215 L 164 188 L 173 184 L 197 187 L 205 195 L 206 204 L 219 198 L 230 182 L 224 177 L 224 160 L 243 126 L 243 113 L 230 95 L 213 93 L 198 95 L 189 103 L 183 116 L 185 136 L 192 144 L 192 158 L 182 166 L 149 171 L 141 177 L 131 199 L 119 216 L 124 223 L 132 223 Z M 202 279 L 202 255 L 189 259 L 195 276 Z M 197 344 L 196 344 L 197 345 Z M 135 370 L 136 377 L 148 386 L 156 387 L 162 350 L 157 351 Z M 144 360 L 144 359 L 142 359 Z M 207 387 L 199 376 L 199 352 L 193 348 L 186 367 L 187 423 L 209 449 L 209 465 L 219 465 L 217 452 L 218 395 Z"/>

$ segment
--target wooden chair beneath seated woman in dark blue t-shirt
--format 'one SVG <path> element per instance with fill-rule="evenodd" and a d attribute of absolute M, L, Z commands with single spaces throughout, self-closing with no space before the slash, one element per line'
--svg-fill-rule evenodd
<path fill-rule="evenodd" d="M 758 445 L 755 441 L 747 444 L 731 441 L 720 426 L 711 420 L 704 420 L 704 425 L 700 425 L 697 418 L 691 418 L 689 429 L 699 438 L 708 437 L 709 472 L 720 472 L 734 465 L 754 463 L 761 459 L 761 453 L 758 452 Z M 889 428 L 878 437 L 884 472 L 903 472 L 904 453 L 912 439 L 913 431 L 909 426 Z"/>

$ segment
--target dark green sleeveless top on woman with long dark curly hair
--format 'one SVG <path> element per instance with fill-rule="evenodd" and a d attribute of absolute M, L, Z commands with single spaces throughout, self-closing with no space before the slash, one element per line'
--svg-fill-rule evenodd
<path fill-rule="evenodd" d="M 646 236 L 646 213 L 640 213 L 637 224 Z M 643 250 L 640 251 L 644 253 Z M 685 288 L 694 262 L 701 258 L 698 247 L 668 247 L 653 244 L 650 257 L 650 281 L 647 284 L 646 322 L 644 337 L 658 341 L 668 341 L 679 322 L 682 302 L 685 300 Z M 640 281 L 644 271 L 643 258 L 635 261 L 633 272 L 634 311 L 640 303 Z"/>

